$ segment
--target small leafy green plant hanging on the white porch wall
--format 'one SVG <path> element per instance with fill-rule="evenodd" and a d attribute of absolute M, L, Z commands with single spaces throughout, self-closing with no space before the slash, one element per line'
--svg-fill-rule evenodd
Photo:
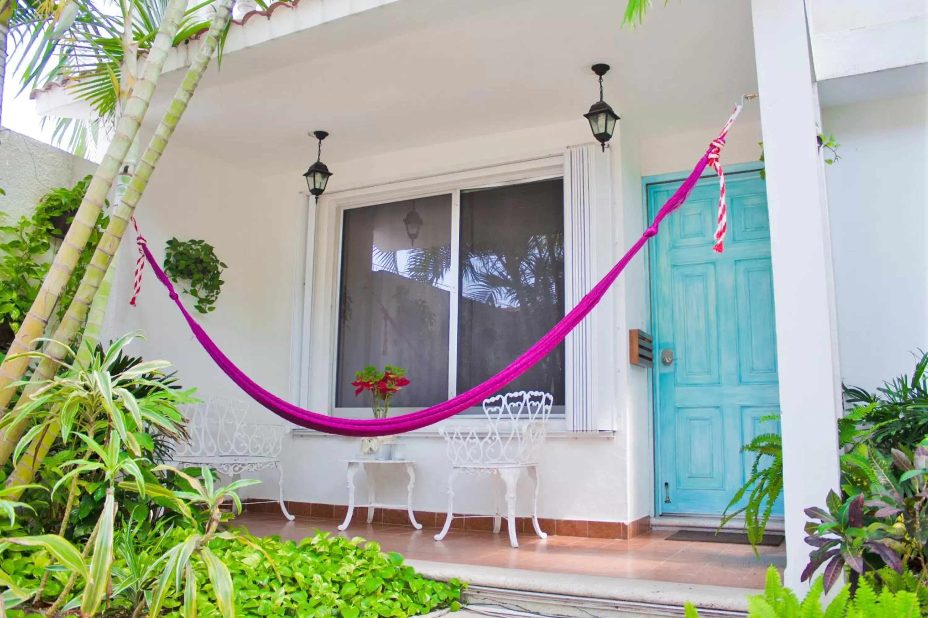
<path fill-rule="evenodd" d="M 216 257 L 213 246 L 206 241 L 172 238 L 167 242 L 164 272 L 175 284 L 178 280 L 187 282 L 188 287 L 183 292 L 197 299 L 195 308 L 200 313 L 216 309 L 216 299 L 226 283 L 220 276 L 226 268 L 226 264 Z"/>

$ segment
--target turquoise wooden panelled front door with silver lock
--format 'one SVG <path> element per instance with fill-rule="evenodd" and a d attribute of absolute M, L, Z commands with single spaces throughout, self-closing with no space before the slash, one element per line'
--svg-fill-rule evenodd
<path fill-rule="evenodd" d="M 712 250 L 718 180 L 700 181 L 651 246 L 658 511 L 720 514 L 753 459 L 741 445 L 779 431 L 767 192 L 726 175 L 728 236 Z M 680 183 L 648 185 L 651 217 Z"/>

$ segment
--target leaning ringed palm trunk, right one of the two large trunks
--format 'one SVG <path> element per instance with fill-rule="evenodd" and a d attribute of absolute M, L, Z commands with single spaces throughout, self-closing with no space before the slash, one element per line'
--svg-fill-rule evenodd
<path fill-rule="evenodd" d="M 184 81 L 181 82 L 180 87 L 177 88 L 174 100 L 171 102 L 170 107 L 168 107 L 167 112 L 165 112 L 164 118 L 161 119 L 158 130 L 151 138 L 148 149 L 142 156 L 138 164 L 138 169 L 135 170 L 135 175 L 133 176 L 132 183 L 129 184 L 129 190 L 126 192 L 125 198 L 110 218 L 110 225 L 107 226 L 106 232 L 103 233 L 103 238 L 100 239 L 100 244 L 97 246 L 93 258 L 90 259 L 90 266 L 84 273 L 84 279 L 77 288 L 77 293 L 74 295 L 71 307 L 68 308 L 68 312 L 61 320 L 61 323 L 58 324 L 58 330 L 53 337 L 54 341 L 49 345 L 47 350 L 48 356 L 54 359 L 63 359 L 65 357 L 67 350 L 60 345 L 60 343 L 67 344 L 78 334 L 81 324 L 84 322 L 87 309 L 91 307 L 91 304 L 93 304 L 93 313 L 106 310 L 105 300 L 103 302 L 97 302 L 97 296 L 105 298 L 109 295 L 109 290 L 107 289 L 109 285 L 103 273 L 106 272 L 110 266 L 112 256 L 115 254 L 116 249 L 119 248 L 122 235 L 129 226 L 133 213 L 135 213 L 138 200 L 148 186 L 151 174 L 155 170 L 155 166 L 158 165 L 158 161 L 164 153 L 164 148 L 171 140 L 171 135 L 177 128 L 177 123 L 187 109 L 190 98 L 193 96 L 197 86 L 200 85 L 200 80 L 206 73 L 206 68 L 209 66 L 210 60 L 215 53 L 219 39 L 226 30 L 226 25 L 232 14 L 233 4 L 234 0 L 221 0 L 219 6 L 216 7 L 216 16 L 210 24 L 210 30 L 204 37 L 203 43 L 200 45 L 200 51 L 190 65 L 190 69 L 187 70 Z M 99 288 L 98 293 L 97 288 Z M 88 318 L 88 322 L 97 319 L 101 320 L 97 315 L 91 315 Z M 56 345 L 56 342 L 60 343 Z M 82 356 L 87 354 L 88 352 L 86 350 L 96 346 L 96 344 L 96 341 L 87 340 L 87 335 L 85 334 L 80 354 Z M 83 359 L 82 356 L 78 358 Z M 32 379 L 29 385 L 26 386 L 22 396 L 19 397 L 17 409 L 25 406 L 29 401 L 30 395 L 35 392 L 35 389 L 55 375 L 56 367 L 57 363 L 51 359 L 43 359 L 42 362 L 39 363 L 35 372 L 32 373 Z M 0 465 L 6 463 L 6 460 L 9 459 L 10 454 L 16 448 L 19 435 L 22 434 L 23 430 L 24 427 L 22 426 L 10 427 L 6 435 L 0 436 Z M 58 438 L 59 430 L 60 425 L 58 425 L 57 421 L 49 424 L 48 431 L 45 433 L 43 439 L 34 442 L 27 452 L 19 459 L 19 463 L 6 481 L 6 486 L 19 486 L 32 482 L 35 470 L 45 458 L 48 449 L 51 448 Z"/>

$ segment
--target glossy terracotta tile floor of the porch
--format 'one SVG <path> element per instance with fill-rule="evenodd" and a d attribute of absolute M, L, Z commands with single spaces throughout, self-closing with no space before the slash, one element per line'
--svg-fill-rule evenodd
<path fill-rule="evenodd" d="M 758 561 L 747 545 L 668 541 L 670 533 L 657 531 L 627 541 L 575 536 L 542 540 L 534 534 L 522 534 L 520 547 L 514 549 L 505 534 L 477 531 L 451 530 L 445 540 L 437 542 L 432 538 L 436 529 L 415 530 L 409 525 L 355 522 L 340 533 L 337 526 L 341 522 L 335 520 L 297 516 L 288 522 L 272 513 L 245 513 L 236 523 L 254 535 L 293 540 L 311 536 L 316 529 L 363 536 L 378 541 L 384 551 L 397 551 L 413 560 L 714 586 L 762 588 L 767 565 L 775 564 L 782 570 L 786 564 L 785 545 L 758 548 Z"/>

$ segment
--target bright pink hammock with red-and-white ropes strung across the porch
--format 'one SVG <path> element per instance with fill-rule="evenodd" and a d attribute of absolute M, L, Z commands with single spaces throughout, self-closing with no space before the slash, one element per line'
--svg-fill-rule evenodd
<path fill-rule="evenodd" d="M 135 295 L 137 296 L 141 283 L 142 268 L 145 265 L 145 261 L 143 261 L 144 257 L 145 260 L 148 260 L 148 264 L 151 265 L 151 270 L 155 271 L 155 276 L 158 277 L 158 280 L 168 288 L 169 296 L 174 300 L 174 304 L 177 305 L 181 313 L 184 314 L 184 318 L 187 320 L 190 330 L 196 335 L 197 340 L 200 341 L 200 345 L 213 358 L 216 364 L 219 365 L 219 368 L 245 391 L 249 397 L 260 403 L 267 410 L 271 410 L 277 414 L 280 418 L 290 421 L 290 423 L 295 423 L 309 429 L 315 429 L 316 431 L 326 434 L 357 436 L 396 435 L 426 427 L 452 417 L 461 410 L 467 410 L 471 406 L 483 401 L 485 397 L 493 395 L 500 388 L 522 375 L 522 373 L 534 365 L 535 362 L 542 359 L 548 352 L 560 344 L 564 337 L 586 317 L 586 314 L 596 307 L 599 300 L 609 289 L 610 285 L 612 285 L 612 282 L 614 282 L 619 276 L 619 273 L 625 269 L 628 262 L 641 250 L 641 247 L 645 246 L 648 239 L 657 233 L 661 221 L 664 221 L 667 215 L 679 208 L 686 201 L 687 196 L 690 195 L 690 191 L 692 191 L 692 188 L 702 175 L 702 171 L 705 170 L 707 166 L 715 170 L 719 180 L 718 225 L 715 231 L 715 246 L 713 248 L 715 251 L 721 253 L 722 239 L 726 231 L 726 205 L 725 175 L 722 173 L 722 166 L 721 163 L 719 163 L 718 157 L 722 147 L 725 146 L 725 137 L 728 134 L 728 129 L 735 119 L 738 118 L 740 112 L 741 106 L 735 107 L 734 112 L 731 114 L 731 118 L 728 119 L 722 132 L 719 133 L 718 137 L 709 146 L 709 149 L 699 160 L 699 163 L 696 164 L 696 167 L 693 168 L 692 172 L 690 172 L 690 176 L 687 177 L 686 181 L 680 185 L 676 193 L 671 195 L 670 199 L 668 199 L 664 206 L 658 211 L 657 216 L 654 217 L 654 221 L 651 222 L 648 229 L 638 238 L 638 242 L 628 249 L 625 256 L 612 267 L 612 270 L 602 278 L 599 284 L 596 284 L 596 286 L 580 300 L 574 309 L 571 309 L 570 313 L 561 319 L 561 322 L 558 322 L 554 328 L 539 339 L 534 346 L 522 352 L 522 355 L 513 360 L 506 369 L 496 373 L 496 375 L 486 382 L 483 382 L 483 384 L 476 385 L 457 397 L 423 410 L 386 419 L 342 419 L 327 414 L 303 410 L 302 408 L 284 401 L 273 393 L 264 390 L 264 388 L 257 385 L 251 378 L 239 370 L 235 363 L 223 354 L 222 350 L 213 343 L 213 339 L 210 338 L 210 335 L 206 334 L 206 331 L 203 330 L 200 324 L 187 312 L 187 309 L 185 309 L 184 304 L 180 300 L 180 296 L 178 296 L 177 292 L 174 290 L 174 285 L 171 284 L 167 275 L 164 274 L 158 262 L 151 255 L 151 252 L 148 250 L 148 245 L 141 234 L 138 235 L 137 240 L 141 255 L 135 267 Z M 136 233 L 138 232 L 137 226 L 135 231 Z M 131 304 L 135 305 L 135 296 L 133 296 Z"/>

